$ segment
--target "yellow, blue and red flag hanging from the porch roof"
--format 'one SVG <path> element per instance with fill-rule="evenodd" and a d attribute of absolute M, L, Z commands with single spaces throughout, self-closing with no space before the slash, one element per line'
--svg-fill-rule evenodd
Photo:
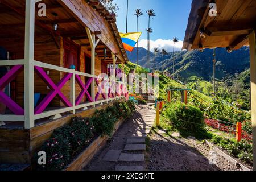
<path fill-rule="evenodd" d="M 127 34 L 120 33 L 123 42 L 123 47 L 125 47 L 127 51 L 132 52 L 141 34 L 142 32 L 132 32 Z"/>

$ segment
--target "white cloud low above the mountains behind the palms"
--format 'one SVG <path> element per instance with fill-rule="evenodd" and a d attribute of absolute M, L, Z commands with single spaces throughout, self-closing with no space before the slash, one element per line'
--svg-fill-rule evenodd
<path fill-rule="evenodd" d="M 139 41 L 139 47 L 143 47 L 147 49 L 147 40 L 142 39 Z M 181 51 L 181 48 L 183 46 L 183 41 L 179 41 L 175 43 L 175 48 L 174 48 L 174 42 L 169 39 L 169 40 L 163 40 L 163 39 L 157 39 L 157 40 L 150 40 L 150 51 L 153 52 L 155 47 L 158 47 L 159 49 L 166 49 L 168 52 L 172 52 L 173 48 L 175 51 Z"/>

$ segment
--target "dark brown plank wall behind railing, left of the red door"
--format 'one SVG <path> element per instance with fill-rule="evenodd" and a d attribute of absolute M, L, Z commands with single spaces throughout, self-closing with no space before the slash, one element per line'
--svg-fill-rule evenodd
<path fill-rule="evenodd" d="M 57 38 L 57 41 L 60 42 L 60 39 Z M 24 59 L 24 38 L 0 39 L 0 46 L 13 53 L 13 59 Z M 57 48 L 51 35 L 35 35 L 35 60 L 60 66 L 60 49 Z M 51 70 L 49 77 L 57 83 L 60 80 L 60 73 Z M 35 73 L 35 93 L 47 94 L 48 92 L 47 85 Z M 16 102 L 20 106 L 24 104 L 24 72 L 21 72 L 16 78 Z M 59 99 L 55 98 L 51 105 L 59 106 Z"/>

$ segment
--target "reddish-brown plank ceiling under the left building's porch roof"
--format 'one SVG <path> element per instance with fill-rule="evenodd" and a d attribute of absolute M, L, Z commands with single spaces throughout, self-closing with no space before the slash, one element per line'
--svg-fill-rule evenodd
<path fill-rule="evenodd" d="M 51 34 L 53 39 L 57 36 L 62 36 L 64 38 L 70 38 L 74 40 L 77 44 L 85 47 L 90 51 L 90 44 L 88 36 L 85 31 L 85 27 L 82 26 L 77 19 L 74 18 L 68 11 L 64 9 L 56 0 L 44 0 L 47 5 L 47 17 L 39 17 L 37 14 L 35 16 L 35 35 L 40 34 Z M 99 6 L 100 4 L 95 3 L 97 1 L 88 1 L 91 6 Z M 37 7 L 36 7 L 37 10 Z M 105 9 L 100 11 L 105 12 Z M 108 11 L 107 11 L 108 12 Z M 52 13 L 56 13 L 54 16 Z M 106 14 L 103 14 L 106 16 Z M 24 17 L 25 17 L 25 0 L 1 0 L 0 1 L 0 38 L 24 38 Z M 106 18 L 106 17 L 105 17 Z M 110 18 L 108 20 L 109 24 L 116 28 L 115 21 Z M 53 30 L 53 23 L 58 24 L 58 30 Z M 117 28 L 116 28 L 117 30 Z M 94 32 L 95 34 L 101 34 L 101 32 Z M 118 37 L 118 30 L 114 32 L 116 41 L 123 53 L 123 57 L 127 61 L 127 55 L 125 49 L 120 45 L 122 44 L 121 38 Z M 118 35 L 117 35 L 118 34 Z M 97 35 L 96 35 L 97 36 Z M 56 43 L 57 44 L 57 43 Z M 59 45 L 57 45 L 59 46 Z M 105 59 L 104 49 L 106 49 L 107 57 Z M 113 62 L 110 49 L 100 41 L 96 48 L 97 57 L 102 61 L 107 63 Z M 118 63 L 121 60 L 118 59 Z"/>

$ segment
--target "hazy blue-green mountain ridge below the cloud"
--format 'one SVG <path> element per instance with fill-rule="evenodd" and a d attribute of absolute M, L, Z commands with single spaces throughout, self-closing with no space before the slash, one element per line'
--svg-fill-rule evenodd
<path fill-rule="evenodd" d="M 132 63 L 137 63 L 137 48 L 127 53 Z M 155 69 L 172 73 L 172 55 L 155 56 Z M 138 48 L 138 64 L 147 68 L 147 50 Z M 202 77 L 204 80 L 211 80 L 213 75 L 213 49 L 205 49 L 204 52 L 179 51 L 174 52 L 175 75 L 181 79 L 188 79 L 192 76 Z M 225 48 L 216 48 L 216 78 L 222 79 L 226 75 L 239 74 L 250 68 L 249 47 L 242 47 L 232 53 L 226 52 Z M 150 52 L 150 68 L 154 68 L 154 53 Z"/>

